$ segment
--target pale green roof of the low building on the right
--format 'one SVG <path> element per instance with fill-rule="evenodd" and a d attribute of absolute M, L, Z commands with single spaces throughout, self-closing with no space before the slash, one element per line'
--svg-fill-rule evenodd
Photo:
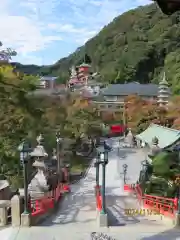
<path fill-rule="evenodd" d="M 152 139 L 157 137 L 159 140 L 159 147 L 165 148 L 171 146 L 180 138 L 180 131 L 157 124 L 151 124 L 144 132 L 136 137 L 150 145 L 152 144 Z"/>

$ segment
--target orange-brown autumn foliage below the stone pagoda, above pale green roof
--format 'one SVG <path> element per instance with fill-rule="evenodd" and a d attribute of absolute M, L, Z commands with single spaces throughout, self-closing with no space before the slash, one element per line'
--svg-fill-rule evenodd
<path fill-rule="evenodd" d="M 178 128 L 180 113 L 178 101 L 176 97 L 168 107 L 160 107 L 157 101 L 144 100 L 136 95 L 128 96 L 125 99 L 128 127 L 135 133 L 144 131 L 151 123 Z"/>

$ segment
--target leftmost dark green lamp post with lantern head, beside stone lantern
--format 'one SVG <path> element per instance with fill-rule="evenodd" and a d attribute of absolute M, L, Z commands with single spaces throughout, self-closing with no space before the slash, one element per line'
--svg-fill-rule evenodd
<path fill-rule="evenodd" d="M 24 214 L 29 213 L 28 207 L 28 160 L 29 154 L 31 152 L 30 144 L 28 142 L 22 142 L 18 151 L 20 152 L 20 161 L 23 165 L 23 175 L 24 175 Z"/>

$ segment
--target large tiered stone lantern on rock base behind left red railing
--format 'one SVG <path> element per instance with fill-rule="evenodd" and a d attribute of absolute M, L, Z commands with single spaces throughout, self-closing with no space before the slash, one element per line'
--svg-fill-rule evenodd
<path fill-rule="evenodd" d="M 37 169 L 37 173 L 34 178 L 31 180 L 28 191 L 31 196 L 31 199 L 42 198 L 45 193 L 49 190 L 48 180 L 46 176 L 47 167 L 44 163 L 45 158 L 48 156 L 43 145 L 43 137 L 40 135 L 37 137 L 38 145 L 33 152 L 30 153 L 30 156 L 35 159 L 33 167 Z"/>

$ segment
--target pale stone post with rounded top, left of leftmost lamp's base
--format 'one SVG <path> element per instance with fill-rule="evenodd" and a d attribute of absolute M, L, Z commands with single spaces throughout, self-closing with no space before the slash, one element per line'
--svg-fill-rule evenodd
<path fill-rule="evenodd" d="M 21 225 L 21 200 L 19 195 L 15 195 L 11 199 L 11 218 L 13 227 Z"/>

